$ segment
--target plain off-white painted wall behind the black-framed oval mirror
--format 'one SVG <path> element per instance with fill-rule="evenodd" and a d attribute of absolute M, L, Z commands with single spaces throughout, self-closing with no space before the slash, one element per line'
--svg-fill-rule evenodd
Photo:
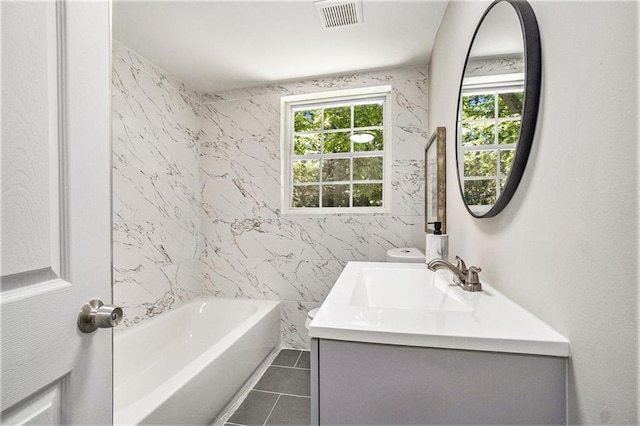
<path fill-rule="evenodd" d="M 455 132 L 464 57 L 490 2 L 450 3 L 430 64 L 429 123 Z M 447 146 L 451 255 L 571 341 L 569 421 L 635 424 L 638 405 L 638 5 L 531 2 L 539 122 L 509 206 L 473 219 Z"/>

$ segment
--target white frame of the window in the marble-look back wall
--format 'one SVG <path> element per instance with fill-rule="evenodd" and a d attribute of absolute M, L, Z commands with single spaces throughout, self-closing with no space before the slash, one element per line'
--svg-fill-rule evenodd
<path fill-rule="evenodd" d="M 337 90 L 331 92 L 309 93 L 304 95 L 283 96 L 280 99 L 280 152 L 281 152 L 281 212 L 283 215 L 334 215 L 334 214 L 374 214 L 391 212 L 391 106 L 392 87 L 390 85 L 366 87 L 359 89 Z M 339 154 L 315 154 L 305 156 L 305 159 L 326 158 L 335 156 L 338 158 L 359 158 L 369 156 L 382 156 L 382 206 L 380 207 L 322 207 L 322 197 L 319 207 L 291 207 L 293 199 L 293 124 L 294 109 L 301 107 L 327 107 L 341 103 L 360 101 L 382 100 L 383 103 L 383 149 L 382 151 L 361 151 Z M 353 174 L 353 170 L 351 170 Z M 353 176 L 353 175 L 352 175 Z M 346 181 L 345 181 L 346 182 Z M 367 183 L 367 181 L 354 181 L 350 183 Z M 333 183 L 333 182 L 332 182 Z M 340 184 L 343 182 L 340 182 Z M 353 195 L 352 195 L 353 196 Z"/>

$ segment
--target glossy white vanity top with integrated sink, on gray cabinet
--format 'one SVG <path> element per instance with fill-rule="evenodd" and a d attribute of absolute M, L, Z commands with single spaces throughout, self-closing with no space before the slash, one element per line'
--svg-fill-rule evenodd
<path fill-rule="evenodd" d="M 425 264 L 349 262 L 309 324 L 315 339 L 569 356 L 568 340 L 488 283 Z"/>

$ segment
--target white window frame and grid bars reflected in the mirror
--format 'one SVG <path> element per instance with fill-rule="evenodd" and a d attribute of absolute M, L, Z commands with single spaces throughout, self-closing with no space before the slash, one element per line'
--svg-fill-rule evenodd
<path fill-rule="evenodd" d="M 518 92 L 524 91 L 524 74 L 523 73 L 511 73 L 511 74 L 498 74 L 491 76 L 477 76 L 477 77 L 465 77 L 465 84 L 462 86 L 462 96 L 472 96 L 479 94 L 492 93 L 494 95 L 494 99 L 497 99 L 497 94 L 499 93 L 509 93 L 509 92 Z M 473 180 L 495 180 L 496 181 L 496 200 L 500 198 L 502 191 L 500 189 L 500 181 L 504 176 L 500 171 L 500 155 L 502 151 L 515 150 L 516 144 L 499 144 L 498 143 L 498 126 L 503 121 L 513 121 L 516 119 L 513 118 L 499 118 L 498 117 L 498 103 L 495 103 L 495 117 L 492 119 L 479 119 L 479 120 L 462 120 L 462 98 L 460 101 L 460 112 L 459 117 L 460 121 L 458 122 L 458 134 L 462 135 L 463 123 L 485 123 L 485 122 L 494 122 L 495 131 L 494 131 L 494 142 L 492 144 L 487 145 L 476 145 L 476 146 L 462 146 L 462 143 L 459 145 L 460 155 L 458 156 L 460 164 L 458 164 L 458 170 L 460 171 L 460 180 L 462 182 L 463 188 L 464 183 L 467 181 Z M 520 120 L 522 120 L 522 114 L 520 115 Z M 496 175 L 495 176 L 464 176 L 464 153 L 465 152 L 480 152 L 480 151 L 498 151 L 497 156 L 497 164 L 496 164 Z M 488 212 L 492 207 L 492 205 L 472 205 L 469 206 L 473 208 L 474 211 L 479 212 L 480 214 Z"/>

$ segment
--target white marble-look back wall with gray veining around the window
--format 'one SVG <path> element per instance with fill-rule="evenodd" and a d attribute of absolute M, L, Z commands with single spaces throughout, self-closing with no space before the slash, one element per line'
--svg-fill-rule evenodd
<path fill-rule="evenodd" d="M 306 348 L 304 320 L 346 262 L 424 248 L 426 69 L 343 75 L 202 96 L 202 286 L 205 294 L 281 301 L 282 344 Z M 392 212 L 280 213 L 280 97 L 390 84 Z"/>

